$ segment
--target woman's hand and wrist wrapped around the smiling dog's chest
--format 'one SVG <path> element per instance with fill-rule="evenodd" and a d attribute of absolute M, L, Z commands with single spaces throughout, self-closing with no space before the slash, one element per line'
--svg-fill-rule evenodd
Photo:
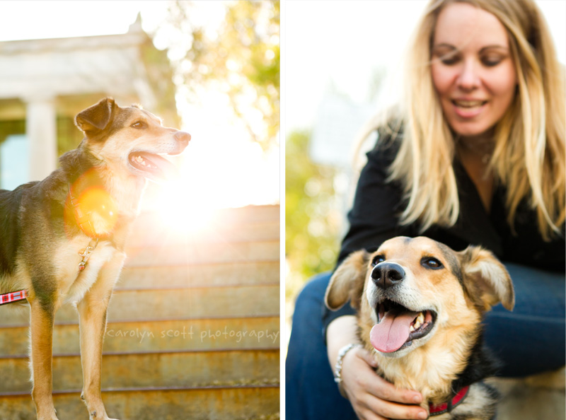
<path fill-rule="evenodd" d="M 342 346 L 357 342 L 356 320 L 353 316 L 340 317 L 328 325 L 328 358 L 334 371 L 338 351 Z M 419 392 L 400 390 L 376 375 L 376 362 L 368 351 L 354 348 L 342 359 L 342 389 L 359 419 L 427 419 Z"/>

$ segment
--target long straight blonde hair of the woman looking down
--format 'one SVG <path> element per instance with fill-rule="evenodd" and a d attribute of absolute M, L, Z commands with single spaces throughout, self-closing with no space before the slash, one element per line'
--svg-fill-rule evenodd
<path fill-rule="evenodd" d="M 400 223 L 419 223 L 422 231 L 432 224 L 453 226 L 460 212 L 452 167 L 454 137 L 442 115 L 430 66 L 437 16 L 454 1 L 483 8 L 507 29 L 518 88 L 495 127 L 490 168 L 507 188 L 509 226 L 513 228 L 519 203 L 527 199 L 536 210 L 538 230 L 550 240 L 560 235 L 566 213 L 565 83 L 545 20 L 532 0 L 430 2 L 408 49 L 405 94 L 396 115 L 403 134 L 389 179 L 404 186 L 408 205 Z M 388 124 L 391 129 L 391 119 Z"/>

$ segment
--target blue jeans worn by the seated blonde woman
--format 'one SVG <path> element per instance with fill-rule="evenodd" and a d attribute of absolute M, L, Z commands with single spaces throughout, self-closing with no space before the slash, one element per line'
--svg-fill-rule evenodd
<path fill-rule="evenodd" d="M 485 318 L 485 343 L 502 361 L 500 375 L 526 376 L 565 364 L 565 276 L 506 264 L 515 288 L 513 312 L 495 306 Z M 357 419 L 334 383 L 323 339 L 323 299 L 330 273 L 306 284 L 296 299 L 285 362 L 287 419 Z"/>

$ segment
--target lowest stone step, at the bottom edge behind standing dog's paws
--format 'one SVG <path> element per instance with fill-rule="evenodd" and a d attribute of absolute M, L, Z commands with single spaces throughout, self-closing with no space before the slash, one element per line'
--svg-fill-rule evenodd
<path fill-rule="evenodd" d="M 108 415 L 121 420 L 275 420 L 279 387 L 275 385 L 103 390 Z M 59 419 L 88 419 L 80 390 L 55 392 Z M 1 419 L 35 420 L 26 393 L 0 394 Z"/>

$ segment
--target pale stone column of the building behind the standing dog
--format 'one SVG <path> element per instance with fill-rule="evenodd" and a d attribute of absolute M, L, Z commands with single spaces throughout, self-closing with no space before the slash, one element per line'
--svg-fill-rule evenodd
<path fill-rule="evenodd" d="M 30 181 L 39 181 L 57 168 L 57 115 L 53 98 L 30 98 L 26 102 Z"/>

